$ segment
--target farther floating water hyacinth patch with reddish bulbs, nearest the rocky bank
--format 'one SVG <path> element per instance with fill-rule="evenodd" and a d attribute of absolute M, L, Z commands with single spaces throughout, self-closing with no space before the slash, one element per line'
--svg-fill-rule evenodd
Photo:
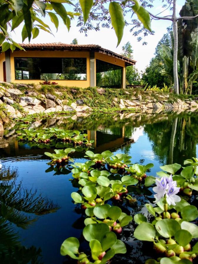
<path fill-rule="evenodd" d="M 16 131 L 17 139 L 21 142 L 31 142 L 31 146 L 51 148 L 63 148 L 69 146 L 88 147 L 94 141 L 87 140 L 87 134 L 81 134 L 78 130 L 64 130 L 57 127 L 43 129 L 21 129 Z"/>

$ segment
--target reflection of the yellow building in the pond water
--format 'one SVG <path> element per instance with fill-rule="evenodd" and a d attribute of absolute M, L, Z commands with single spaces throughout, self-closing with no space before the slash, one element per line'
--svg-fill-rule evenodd
<path fill-rule="evenodd" d="M 125 138 L 125 127 L 100 128 L 99 131 L 87 130 L 88 140 L 94 140 L 93 147 L 96 152 L 102 152 L 112 148 L 120 148 L 127 143 L 133 143 L 132 138 Z"/>

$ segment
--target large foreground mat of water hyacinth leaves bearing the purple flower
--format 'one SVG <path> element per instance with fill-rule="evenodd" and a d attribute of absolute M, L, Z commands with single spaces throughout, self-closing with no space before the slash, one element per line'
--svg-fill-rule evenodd
<path fill-rule="evenodd" d="M 69 155 L 75 149 L 62 151 Z M 45 154 L 53 160 L 53 154 Z M 157 259 L 145 263 L 192 263 L 198 255 L 198 226 L 194 224 L 198 211 L 188 200 L 198 191 L 198 159 L 186 160 L 185 167 L 177 163 L 161 166 L 162 171 L 153 177 L 146 175 L 153 164 L 133 164 L 128 154 L 114 155 L 109 150 L 101 154 L 88 150 L 85 154 L 89 158 L 85 163 L 69 160 L 72 181 L 79 188 L 71 197 L 86 216 L 82 234 L 91 253 L 80 252 L 78 239 L 70 237 L 62 243 L 61 255 L 68 255 L 79 264 L 105 264 L 115 254 L 126 253 L 125 243 L 118 237 L 134 220 L 134 238 L 153 243 L 156 251 Z M 154 206 L 145 204 L 148 219 L 143 214 L 133 218 L 119 207 L 123 202 L 136 203 L 130 187 L 153 188 Z"/>

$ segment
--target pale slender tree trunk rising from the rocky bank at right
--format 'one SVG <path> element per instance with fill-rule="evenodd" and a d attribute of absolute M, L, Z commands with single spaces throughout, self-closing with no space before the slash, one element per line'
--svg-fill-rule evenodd
<path fill-rule="evenodd" d="M 176 20 L 176 0 L 173 0 L 173 35 L 174 35 L 174 52 L 173 52 L 173 75 L 174 75 L 174 90 L 176 94 L 179 94 L 179 82 L 178 82 L 178 71 L 177 71 L 177 52 L 178 52 L 178 31 L 177 31 L 177 20 Z"/>

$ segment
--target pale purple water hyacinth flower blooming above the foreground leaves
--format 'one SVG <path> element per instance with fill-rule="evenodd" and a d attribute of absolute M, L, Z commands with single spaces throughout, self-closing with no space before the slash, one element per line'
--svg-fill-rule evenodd
<path fill-rule="evenodd" d="M 156 179 L 156 187 L 153 187 L 155 202 L 159 202 L 162 197 L 166 197 L 167 204 L 176 205 L 175 202 L 180 202 L 181 198 L 176 195 L 180 188 L 177 187 L 177 182 L 172 180 L 172 174 L 169 177 L 162 177 L 160 180 Z"/>

